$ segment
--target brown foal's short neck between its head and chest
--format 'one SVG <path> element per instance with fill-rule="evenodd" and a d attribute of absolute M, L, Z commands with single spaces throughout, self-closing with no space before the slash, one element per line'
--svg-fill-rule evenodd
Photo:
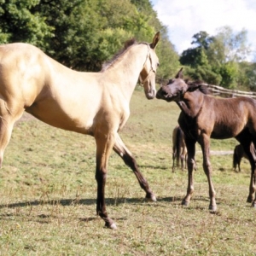
<path fill-rule="evenodd" d="M 189 118 L 195 118 L 201 111 L 204 95 L 200 91 L 186 92 L 183 101 L 177 102 L 177 106 Z"/>

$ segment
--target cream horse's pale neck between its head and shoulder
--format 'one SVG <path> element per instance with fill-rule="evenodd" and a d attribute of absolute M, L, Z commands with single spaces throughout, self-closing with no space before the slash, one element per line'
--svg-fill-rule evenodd
<path fill-rule="evenodd" d="M 148 49 L 143 44 L 137 44 L 128 49 L 119 60 L 115 61 L 111 67 L 104 71 L 104 77 L 109 79 L 112 84 L 117 84 L 127 99 L 131 95 L 139 74 L 147 58 Z"/>

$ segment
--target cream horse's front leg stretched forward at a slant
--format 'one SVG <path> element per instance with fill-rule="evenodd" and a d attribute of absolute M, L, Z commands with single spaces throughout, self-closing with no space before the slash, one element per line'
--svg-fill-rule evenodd
<path fill-rule="evenodd" d="M 156 201 L 155 195 L 151 189 L 149 189 L 147 180 L 143 177 L 143 174 L 139 171 L 137 162 L 132 157 L 131 152 L 128 148 L 125 147 L 125 143 L 119 137 L 119 134 L 115 137 L 115 143 L 113 145 L 113 150 L 124 160 L 125 165 L 130 166 L 131 170 L 134 172 L 137 180 L 141 186 L 141 188 L 146 192 L 146 198 L 150 199 L 151 201 Z"/>

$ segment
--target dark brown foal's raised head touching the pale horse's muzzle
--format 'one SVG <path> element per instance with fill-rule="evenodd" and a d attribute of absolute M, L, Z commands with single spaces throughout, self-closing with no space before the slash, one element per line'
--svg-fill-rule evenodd
<path fill-rule="evenodd" d="M 160 87 L 156 98 L 166 102 L 180 102 L 187 91 L 194 90 L 201 90 L 204 94 L 208 93 L 207 87 L 201 81 L 189 82 L 188 80 L 183 80 L 183 68 L 181 68 L 175 79 L 170 79 L 168 84 Z"/>

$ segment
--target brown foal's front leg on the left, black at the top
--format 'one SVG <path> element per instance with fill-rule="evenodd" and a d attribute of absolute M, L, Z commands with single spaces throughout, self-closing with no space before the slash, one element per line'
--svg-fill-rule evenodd
<path fill-rule="evenodd" d="M 187 166 L 188 166 L 188 189 L 187 195 L 183 198 L 182 205 L 189 206 L 191 196 L 194 192 L 194 169 L 195 169 L 195 140 L 185 137 L 185 143 L 188 150 Z"/>

